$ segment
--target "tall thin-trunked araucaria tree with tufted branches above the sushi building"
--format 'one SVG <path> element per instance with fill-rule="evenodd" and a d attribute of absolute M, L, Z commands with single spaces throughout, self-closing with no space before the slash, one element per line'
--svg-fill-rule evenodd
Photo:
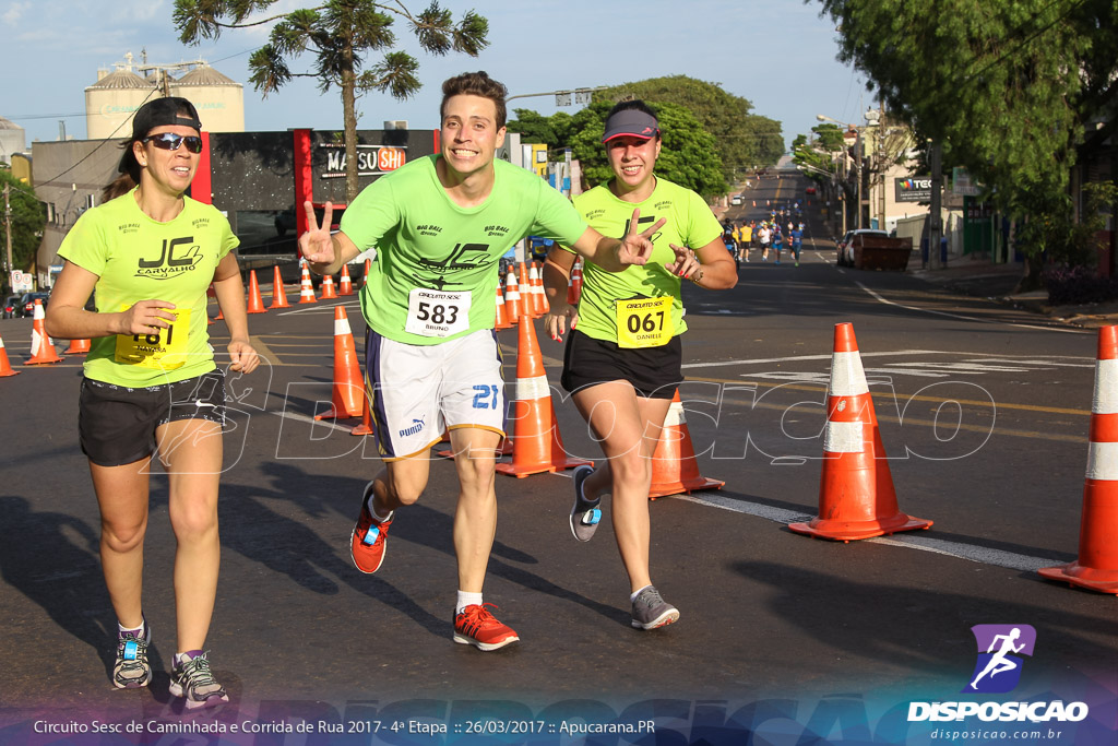
<path fill-rule="evenodd" d="M 184 44 L 216 39 L 224 29 L 247 28 L 276 21 L 268 44 L 253 53 L 248 66 L 253 85 L 263 95 L 281 88 L 293 77 L 318 78 L 323 93 L 338 86 L 342 92 L 345 129 L 345 193 L 358 193 L 357 96 L 369 91 L 388 92 L 406 100 L 421 84 L 419 64 L 411 55 L 394 49 L 394 16 L 407 21 L 419 46 L 434 55 L 459 51 L 471 57 L 489 46 L 489 21 L 468 10 L 455 23 L 438 0 L 423 11 L 410 11 L 401 0 L 325 0 L 314 8 L 249 20 L 267 11 L 276 0 L 176 0 L 174 25 Z M 381 60 L 366 68 L 363 57 L 383 51 Z M 293 73 L 288 60 L 304 53 L 314 55 L 309 73 Z"/>

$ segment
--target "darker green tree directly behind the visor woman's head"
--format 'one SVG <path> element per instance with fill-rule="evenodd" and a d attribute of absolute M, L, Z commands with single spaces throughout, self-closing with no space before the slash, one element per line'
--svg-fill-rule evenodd
<path fill-rule="evenodd" d="M 663 149 L 656 162 L 656 173 L 703 197 L 727 191 L 722 163 L 714 148 L 714 138 L 695 116 L 678 104 L 647 102 L 660 120 Z M 601 132 L 613 102 L 596 101 L 572 119 L 574 134 L 569 144 L 590 187 L 613 178 Z"/>

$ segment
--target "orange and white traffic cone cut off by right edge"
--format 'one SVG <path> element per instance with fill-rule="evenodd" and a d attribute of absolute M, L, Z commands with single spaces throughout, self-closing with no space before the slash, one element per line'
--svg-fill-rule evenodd
<path fill-rule="evenodd" d="M 1099 330 L 1079 558 L 1041 577 L 1118 594 L 1118 325 Z"/>

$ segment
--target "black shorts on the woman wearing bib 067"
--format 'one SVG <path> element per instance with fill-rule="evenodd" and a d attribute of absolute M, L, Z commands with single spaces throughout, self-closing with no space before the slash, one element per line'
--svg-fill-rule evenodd
<path fill-rule="evenodd" d="M 661 347 L 628 349 L 572 329 L 567 336 L 560 384 L 572 394 L 595 384 L 627 380 L 641 396 L 671 399 L 683 381 L 682 363 L 679 334 Z"/>

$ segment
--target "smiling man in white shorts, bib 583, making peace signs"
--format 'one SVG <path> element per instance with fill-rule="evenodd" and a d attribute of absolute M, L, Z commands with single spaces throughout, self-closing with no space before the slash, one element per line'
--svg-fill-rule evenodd
<path fill-rule="evenodd" d="M 494 161 L 504 142 L 508 92 L 485 73 L 443 84 L 440 152 L 405 166 L 364 189 L 330 234 L 305 205 L 311 230 L 300 249 L 320 274 L 377 246 L 361 309 L 370 410 L 385 469 L 366 487 L 351 554 L 373 573 L 385 556 L 394 511 L 419 499 L 429 474 L 429 446 L 449 429 L 461 484 L 454 545 L 458 599 L 454 641 L 495 650 L 519 640 L 482 603 L 496 530 L 493 488 L 503 435 L 504 390 L 493 332 L 501 256 L 527 235 L 572 246 L 598 266 L 619 272 L 644 264 L 647 230 L 606 238 L 539 177 Z"/>

